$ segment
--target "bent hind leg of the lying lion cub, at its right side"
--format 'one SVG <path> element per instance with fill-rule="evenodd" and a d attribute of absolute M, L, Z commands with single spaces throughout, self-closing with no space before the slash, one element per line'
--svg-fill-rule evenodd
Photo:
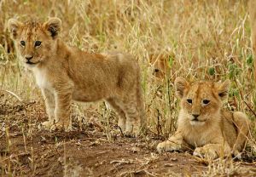
<path fill-rule="evenodd" d="M 233 114 L 233 121 L 236 124 L 237 128 L 237 139 L 233 148 L 234 151 L 242 151 L 242 149 L 246 145 L 247 135 L 249 133 L 250 120 L 243 112 L 236 111 Z"/>

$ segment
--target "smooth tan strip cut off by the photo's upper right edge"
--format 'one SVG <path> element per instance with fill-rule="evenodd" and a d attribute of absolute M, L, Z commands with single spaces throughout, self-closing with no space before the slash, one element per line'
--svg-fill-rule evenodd
<path fill-rule="evenodd" d="M 253 47 L 253 63 L 254 63 L 254 80 L 256 81 L 256 1 L 250 0 L 248 2 L 248 9 L 251 23 L 251 37 Z"/>

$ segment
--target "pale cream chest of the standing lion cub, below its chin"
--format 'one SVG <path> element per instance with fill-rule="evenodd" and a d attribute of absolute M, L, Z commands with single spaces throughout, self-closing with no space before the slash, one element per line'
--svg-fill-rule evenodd
<path fill-rule="evenodd" d="M 49 75 L 45 70 L 34 69 L 33 70 L 34 77 L 36 78 L 36 82 L 39 88 L 49 88 Z"/>

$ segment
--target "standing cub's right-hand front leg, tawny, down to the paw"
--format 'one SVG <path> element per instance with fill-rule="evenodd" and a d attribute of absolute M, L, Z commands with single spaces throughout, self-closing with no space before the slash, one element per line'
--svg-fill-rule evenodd
<path fill-rule="evenodd" d="M 55 128 L 65 128 L 66 131 L 72 129 L 71 123 L 71 101 L 72 89 L 57 90 L 55 92 Z"/>

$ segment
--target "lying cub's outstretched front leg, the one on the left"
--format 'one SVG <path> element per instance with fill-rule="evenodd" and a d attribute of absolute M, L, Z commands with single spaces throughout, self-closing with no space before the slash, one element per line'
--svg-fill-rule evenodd
<path fill-rule="evenodd" d="M 189 145 L 183 140 L 183 135 L 176 132 L 168 140 L 161 142 L 156 147 L 159 153 L 163 151 L 183 151 L 188 149 Z"/>

